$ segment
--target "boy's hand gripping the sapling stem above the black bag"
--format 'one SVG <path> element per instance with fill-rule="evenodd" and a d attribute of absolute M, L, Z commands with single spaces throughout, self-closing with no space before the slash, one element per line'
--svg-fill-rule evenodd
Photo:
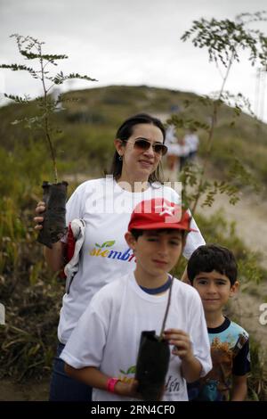
<path fill-rule="evenodd" d="M 194 357 L 189 334 L 179 329 L 167 329 L 164 338 L 170 345 L 174 345 L 172 353 L 178 355 L 182 361 L 188 361 Z"/>

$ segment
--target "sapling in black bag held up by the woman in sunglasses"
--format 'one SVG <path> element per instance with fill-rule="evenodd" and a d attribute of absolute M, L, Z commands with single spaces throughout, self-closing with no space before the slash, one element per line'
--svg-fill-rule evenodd
<path fill-rule="evenodd" d="M 62 94 L 57 98 L 53 98 L 51 94 L 52 89 L 54 86 L 62 85 L 69 79 L 96 80 L 89 76 L 81 76 L 78 73 L 70 73 L 65 76 L 62 71 L 59 71 L 56 74 L 52 74 L 49 68 L 51 66 L 57 66 L 58 61 L 67 59 L 67 55 L 44 53 L 44 42 L 40 42 L 34 37 L 22 37 L 18 34 L 13 34 L 11 37 L 16 39 L 19 52 L 25 60 L 37 62 L 36 68 L 21 64 L 1 64 L 0 68 L 10 69 L 12 71 L 27 71 L 32 78 L 39 80 L 44 94 L 35 98 L 38 113 L 34 117 L 15 120 L 13 124 L 24 122 L 29 128 L 41 129 L 50 151 L 50 158 L 53 163 L 54 182 L 44 181 L 43 183 L 43 199 L 45 202 L 44 222 L 43 228 L 38 234 L 37 241 L 52 248 L 53 242 L 58 242 L 66 233 L 65 205 L 68 186 L 67 182 L 58 181 L 54 136 L 59 130 L 53 126 L 52 121 L 53 114 L 58 111 L 59 104 L 66 102 L 67 99 Z M 21 97 L 14 94 L 4 94 L 4 96 L 15 103 L 29 103 L 31 100 L 28 95 Z"/>

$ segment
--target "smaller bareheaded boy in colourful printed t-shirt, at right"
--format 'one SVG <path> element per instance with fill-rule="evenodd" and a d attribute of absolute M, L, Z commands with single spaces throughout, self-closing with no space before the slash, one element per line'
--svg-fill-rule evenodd
<path fill-rule="evenodd" d="M 187 271 L 203 303 L 213 360 L 209 374 L 188 385 L 189 398 L 242 401 L 250 371 L 248 334 L 223 316 L 225 304 L 239 288 L 236 260 L 225 247 L 207 244 L 192 253 Z"/>

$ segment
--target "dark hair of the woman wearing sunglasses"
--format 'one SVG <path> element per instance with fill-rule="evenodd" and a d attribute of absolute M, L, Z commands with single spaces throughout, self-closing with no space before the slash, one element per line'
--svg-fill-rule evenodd
<path fill-rule="evenodd" d="M 127 141 L 130 136 L 133 134 L 133 128 L 137 124 L 151 124 L 155 127 L 158 127 L 163 135 L 163 143 L 165 142 L 166 137 L 166 130 L 162 122 L 158 118 L 151 117 L 147 113 L 138 113 L 137 115 L 134 115 L 133 117 L 130 117 L 126 119 L 123 124 L 118 128 L 116 138 L 119 138 L 120 140 Z M 122 171 L 122 160 L 119 160 L 119 155 L 117 151 L 114 153 L 111 168 L 110 168 L 110 174 L 117 179 L 121 175 Z M 149 182 L 160 182 L 163 183 L 163 180 L 161 178 L 161 163 L 159 162 L 158 168 L 151 173 L 149 177 Z"/>

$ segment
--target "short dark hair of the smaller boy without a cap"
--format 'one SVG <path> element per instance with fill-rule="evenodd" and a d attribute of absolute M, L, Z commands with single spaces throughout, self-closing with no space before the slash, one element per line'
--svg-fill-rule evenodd
<path fill-rule="evenodd" d="M 188 261 L 187 274 L 192 283 L 200 272 L 217 271 L 229 278 L 233 285 L 238 278 L 238 265 L 231 251 L 218 244 L 199 246 Z"/>

